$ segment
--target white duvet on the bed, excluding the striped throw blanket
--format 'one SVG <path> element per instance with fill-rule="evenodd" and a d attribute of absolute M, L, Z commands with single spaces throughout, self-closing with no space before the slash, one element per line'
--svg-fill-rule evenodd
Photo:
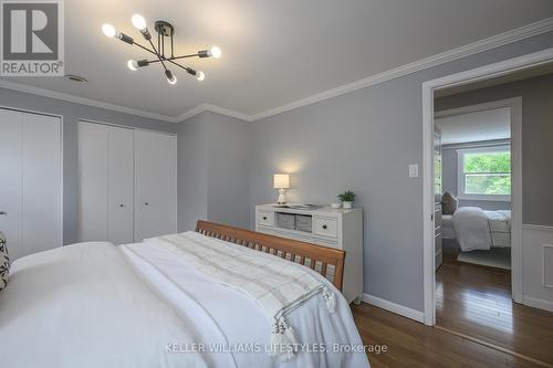
<path fill-rule="evenodd" d="M 290 314 L 303 346 L 284 362 L 264 350 L 258 305 L 159 246 L 75 244 L 14 262 L 0 293 L 1 366 L 368 367 L 364 353 L 334 353 L 362 344 L 336 302 L 332 315 L 317 298 Z"/>

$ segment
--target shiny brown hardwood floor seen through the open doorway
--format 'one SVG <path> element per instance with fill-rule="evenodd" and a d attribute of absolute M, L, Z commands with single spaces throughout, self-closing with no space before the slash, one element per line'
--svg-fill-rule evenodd
<path fill-rule="evenodd" d="M 444 262 L 436 275 L 437 325 L 553 367 L 553 313 L 511 299 L 511 273 Z"/>

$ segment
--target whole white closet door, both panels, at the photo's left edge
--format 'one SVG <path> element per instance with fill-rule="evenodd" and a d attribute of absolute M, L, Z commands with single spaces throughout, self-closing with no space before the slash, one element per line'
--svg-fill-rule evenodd
<path fill-rule="evenodd" d="M 61 119 L 0 109 L 0 172 L 10 257 L 61 246 Z"/>

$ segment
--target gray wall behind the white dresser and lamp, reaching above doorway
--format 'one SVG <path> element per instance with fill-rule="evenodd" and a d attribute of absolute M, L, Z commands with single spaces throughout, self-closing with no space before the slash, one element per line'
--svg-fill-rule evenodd
<path fill-rule="evenodd" d="M 422 179 L 408 178 L 422 159 L 421 84 L 552 46 L 542 34 L 254 122 L 250 213 L 274 201 L 278 171 L 292 172 L 294 201 L 354 190 L 365 211 L 365 291 L 422 311 Z"/>

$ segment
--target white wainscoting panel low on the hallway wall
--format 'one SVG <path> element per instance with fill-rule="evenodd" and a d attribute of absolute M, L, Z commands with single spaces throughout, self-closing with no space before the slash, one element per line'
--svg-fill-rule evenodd
<path fill-rule="evenodd" d="M 553 312 L 553 227 L 522 225 L 522 303 Z"/>

